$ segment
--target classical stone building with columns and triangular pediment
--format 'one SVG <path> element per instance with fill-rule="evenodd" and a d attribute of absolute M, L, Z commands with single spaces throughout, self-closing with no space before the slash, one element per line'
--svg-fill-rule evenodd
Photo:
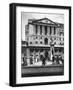
<path fill-rule="evenodd" d="M 22 54 L 27 58 L 30 65 L 30 58 L 33 64 L 40 61 L 40 56 L 52 60 L 53 55 L 64 56 L 64 24 L 54 22 L 48 18 L 29 19 L 25 26 L 25 41 L 22 41 Z"/>

